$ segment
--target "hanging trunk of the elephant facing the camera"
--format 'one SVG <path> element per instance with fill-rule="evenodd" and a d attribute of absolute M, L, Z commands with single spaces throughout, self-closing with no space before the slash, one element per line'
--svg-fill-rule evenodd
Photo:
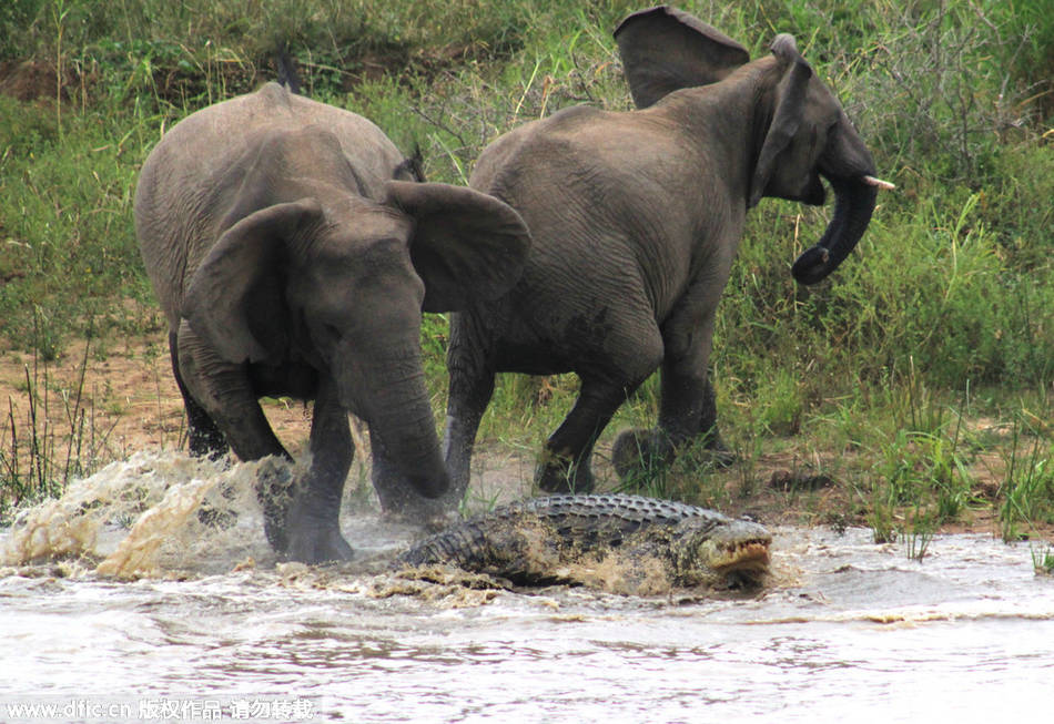
<path fill-rule="evenodd" d="M 403 478 L 426 498 L 449 488 L 419 354 L 369 366 L 369 401 L 362 405 L 373 443 Z"/>

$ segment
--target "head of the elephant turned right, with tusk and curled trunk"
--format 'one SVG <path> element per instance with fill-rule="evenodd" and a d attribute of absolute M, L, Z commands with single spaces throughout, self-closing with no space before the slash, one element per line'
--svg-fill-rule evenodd
<path fill-rule="evenodd" d="M 748 63 L 736 41 L 666 6 L 629 16 L 615 31 L 627 82 L 638 108 L 677 90 L 740 83 L 757 99 L 752 122 L 748 206 L 762 196 L 819 205 L 822 175 L 834 190 L 834 215 L 820 242 L 799 256 L 791 272 L 815 284 L 849 255 L 874 211 L 874 162 L 838 100 L 801 57 L 794 39 L 780 34 L 771 57 Z"/>

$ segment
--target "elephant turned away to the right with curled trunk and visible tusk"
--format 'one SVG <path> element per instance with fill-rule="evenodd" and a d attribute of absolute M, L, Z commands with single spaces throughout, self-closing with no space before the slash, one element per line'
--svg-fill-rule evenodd
<path fill-rule="evenodd" d="M 638 110 L 576 106 L 527 123 L 487 146 L 472 175 L 520 213 L 534 243 L 511 290 L 450 317 L 444 445 L 455 499 L 497 371 L 581 380 L 546 442 L 543 490 L 592 489 L 597 437 L 660 367 L 658 428 L 622 434 L 619 472 L 632 459 L 668 463 L 691 439 L 723 449 L 707 365 L 747 211 L 762 196 L 822 204 L 820 176 L 830 182 L 833 218 L 792 269 L 814 284 L 853 249 L 876 187 L 890 185 L 872 176 L 871 154 L 792 37 L 751 62 L 665 6 L 629 16 L 615 37 Z"/>

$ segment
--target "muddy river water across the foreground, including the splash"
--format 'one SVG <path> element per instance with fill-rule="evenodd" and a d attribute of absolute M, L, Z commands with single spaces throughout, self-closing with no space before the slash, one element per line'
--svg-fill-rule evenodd
<path fill-rule="evenodd" d="M 784 529 L 751 595 L 514 592 L 389 573 L 414 531 L 355 500 L 358 561 L 276 563 L 257 473 L 136 456 L 0 531 L 0 721 L 1050 716 L 1054 580 L 1027 545 L 938 537 L 920 563 Z"/>

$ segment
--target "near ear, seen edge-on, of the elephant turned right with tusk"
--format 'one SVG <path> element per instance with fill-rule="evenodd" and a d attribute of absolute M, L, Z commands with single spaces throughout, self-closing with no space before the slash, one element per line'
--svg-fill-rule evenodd
<path fill-rule="evenodd" d="M 777 156 L 790 145 L 801 126 L 809 81 L 812 79 L 812 68 L 798 52 L 798 44 L 792 35 L 787 33 L 777 35 L 770 49 L 786 70 L 776 88 L 772 122 L 761 145 L 758 165 L 754 166 L 753 180 L 750 184 L 750 207 L 757 206 L 761 201 L 766 186 L 776 171 Z"/>

